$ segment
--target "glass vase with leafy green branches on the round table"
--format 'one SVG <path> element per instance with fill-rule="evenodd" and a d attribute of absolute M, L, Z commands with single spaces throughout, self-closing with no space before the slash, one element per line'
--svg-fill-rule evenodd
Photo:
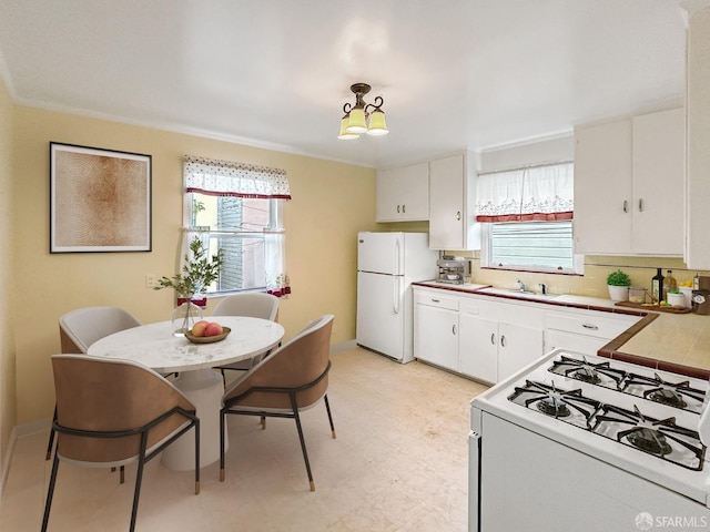
<path fill-rule="evenodd" d="M 210 258 L 202 239 L 195 236 L 190 243 L 190 253 L 185 255 L 182 272 L 173 277 L 163 276 L 158 280 L 159 286 L 155 286 L 154 290 L 175 290 L 178 306 L 173 311 L 173 323 L 182 324 L 174 334 L 184 334 L 191 329 L 194 319 L 202 319 L 202 309 L 193 303 L 193 298 L 217 279 L 223 264 L 224 250 L 217 249 L 216 255 Z"/>

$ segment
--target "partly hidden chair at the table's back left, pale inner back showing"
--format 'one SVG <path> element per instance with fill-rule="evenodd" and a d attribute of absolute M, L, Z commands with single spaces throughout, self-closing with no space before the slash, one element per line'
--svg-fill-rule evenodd
<path fill-rule="evenodd" d="M 120 330 L 139 327 L 141 323 L 119 307 L 83 307 L 59 318 L 59 339 L 64 354 L 85 354 L 94 341 Z M 54 409 L 54 419 L 57 409 Z M 50 428 L 47 460 L 52 456 L 54 429 Z M 121 474 L 123 482 L 123 474 Z"/>

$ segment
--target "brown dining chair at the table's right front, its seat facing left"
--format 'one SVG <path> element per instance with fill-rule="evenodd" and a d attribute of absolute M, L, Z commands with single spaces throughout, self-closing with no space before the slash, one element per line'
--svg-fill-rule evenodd
<path fill-rule="evenodd" d="M 335 427 L 328 403 L 331 369 L 332 315 L 312 321 L 295 337 L 264 358 L 246 374 L 237 377 L 224 391 L 220 410 L 220 480 L 224 480 L 224 434 L 227 415 L 291 418 L 296 421 L 301 450 L 308 473 L 311 491 L 315 491 L 300 412 L 325 402 L 335 438 Z"/>

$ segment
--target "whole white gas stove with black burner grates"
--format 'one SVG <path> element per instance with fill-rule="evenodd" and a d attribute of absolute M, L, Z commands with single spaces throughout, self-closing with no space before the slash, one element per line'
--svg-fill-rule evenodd
<path fill-rule="evenodd" d="M 708 387 L 545 355 L 471 401 L 469 532 L 708 530 Z"/>

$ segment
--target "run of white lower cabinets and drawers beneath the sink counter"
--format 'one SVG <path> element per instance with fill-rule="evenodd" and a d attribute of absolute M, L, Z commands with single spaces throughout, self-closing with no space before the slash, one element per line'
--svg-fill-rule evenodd
<path fill-rule="evenodd" d="M 414 358 L 496 383 L 554 348 L 596 355 L 640 316 L 414 287 Z"/>

